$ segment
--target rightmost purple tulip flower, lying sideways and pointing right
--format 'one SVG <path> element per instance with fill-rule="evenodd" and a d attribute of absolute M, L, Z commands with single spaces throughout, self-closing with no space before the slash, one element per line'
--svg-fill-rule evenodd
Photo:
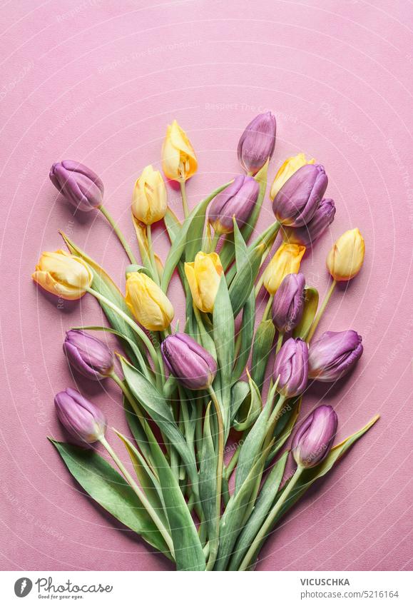
<path fill-rule="evenodd" d="M 323 383 L 336 381 L 349 372 L 362 353 L 362 338 L 355 330 L 327 330 L 310 345 L 308 376 Z"/>

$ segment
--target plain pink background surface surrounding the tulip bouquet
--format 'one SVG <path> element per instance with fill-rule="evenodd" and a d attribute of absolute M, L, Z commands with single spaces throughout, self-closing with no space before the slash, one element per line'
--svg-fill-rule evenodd
<path fill-rule="evenodd" d="M 106 185 L 106 205 L 136 246 L 133 182 L 159 166 L 173 118 L 199 171 L 190 205 L 240 171 L 238 137 L 256 113 L 277 116 L 272 178 L 305 151 L 325 164 L 337 215 L 307 254 L 307 283 L 325 293 L 334 238 L 359 227 L 360 275 L 337 291 L 321 330 L 355 328 L 364 356 L 334 388 L 311 388 L 304 411 L 335 406 L 340 437 L 382 418 L 285 518 L 259 570 L 398 570 L 412 564 L 412 35 L 408 3 L 364 1 L 79 0 L 4 3 L 1 19 L 1 568 L 163 570 L 168 562 L 113 524 L 73 483 L 46 435 L 62 438 L 53 395 L 73 385 L 65 330 L 98 323 L 91 297 L 56 308 L 31 283 L 62 228 L 123 288 L 126 256 L 102 216 L 73 218 L 49 181 L 73 158 Z M 180 200 L 168 186 L 170 206 Z M 266 199 L 260 228 L 272 221 Z M 165 258 L 166 238 L 155 229 Z M 7 292 L 5 292 L 7 291 Z M 173 301 L 180 300 L 173 283 Z M 261 303 L 262 305 L 262 303 Z M 182 306 L 177 305 L 182 317 Z M 113 385 L 81 383 L 126 430 Z M 113 435 L 110 439 L 115 443 Z"/>

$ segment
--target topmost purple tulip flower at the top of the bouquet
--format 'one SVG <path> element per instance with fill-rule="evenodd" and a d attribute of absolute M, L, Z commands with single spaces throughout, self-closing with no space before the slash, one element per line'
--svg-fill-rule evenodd
<path fill-rule="evenodd" d="M 275 148 L 277 123 L 270 111 L 255 116 L 240 137 L 238 160 L 246 173 L 258 173 Z"/>

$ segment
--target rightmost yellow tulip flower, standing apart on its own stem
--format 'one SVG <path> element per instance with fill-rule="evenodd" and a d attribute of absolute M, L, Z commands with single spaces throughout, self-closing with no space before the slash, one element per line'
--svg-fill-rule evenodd
<path fill-rule="evenodd" d="M 327 269 L 337 282 L 351 280 L 362 268 L 364 239 L 360 231 L 349 229 L 338 238 L 327 255 Z"/>

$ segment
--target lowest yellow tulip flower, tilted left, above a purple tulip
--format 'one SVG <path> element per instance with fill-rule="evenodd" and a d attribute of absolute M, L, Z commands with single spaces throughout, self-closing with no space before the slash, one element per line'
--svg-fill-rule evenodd
<path fill-rule="evenodd" d="M 173 320 L 172 303 L 146 273 L 128 273 L 125 301 L 136 320 L 147 330 L 165 330 Z"/>

